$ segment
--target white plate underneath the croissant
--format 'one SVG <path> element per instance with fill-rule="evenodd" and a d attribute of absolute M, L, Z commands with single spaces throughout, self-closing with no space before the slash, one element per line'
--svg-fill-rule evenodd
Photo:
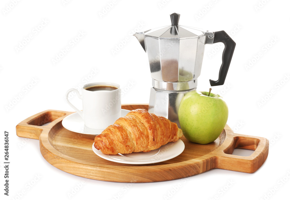
<path fill-rule="evenodd" d="M 135 164 L 135 165 L 152 164 L 170 160 L 181 154 L 183 150 L 184 143 L 181 139 L 177 140 L 176 142 L 167 143 L 166 145 L 161 146 L 159 149 L 155 149 L 149 152 L 133 152 L 130 154 L 117 154 L 117 155 L 103 154 L 101 150 L 97 150 L 93 144 L 93 151 L 99 157 L 116 163 Z"/>

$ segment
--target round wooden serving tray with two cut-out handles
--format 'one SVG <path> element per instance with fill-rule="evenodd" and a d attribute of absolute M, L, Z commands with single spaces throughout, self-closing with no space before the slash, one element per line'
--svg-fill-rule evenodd
<path fill-rule="evenodd" d="M 134 110 L 147 105 L 122 105 Z M 44 159 L 56 168 L 80 177 L 114 182 L 155 182 L 189 177 L 219 168 L 252 173 L 258 170 L 268 156 L 269 141 L 233 133 L 228 125 L 214 142 L 202 145 L 182 137 L 184 151 L 168 161 L 130 165 L 115 163 L 97 156 L 93 150 L 95 136 L 69 131 L 61 121 L 73 112 L 46 110 L 23 120 L 16 126 L 19 137 L 39 139 Z M 46 126 L 45 123 L 51 122 Z M 232 155 L 235 148 L 255 150 L 247 157 Z"/>

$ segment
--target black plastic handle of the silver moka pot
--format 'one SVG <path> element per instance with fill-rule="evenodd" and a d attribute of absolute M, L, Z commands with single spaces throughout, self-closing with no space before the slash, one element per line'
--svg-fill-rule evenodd
<path fill-rule="evenodd" d="M 220 86 L 224 84 L 236 45 L 233 39 L 231 39 L 231 37 L 229 37 L 229 35 L 224 30 L 215 32 L 213 43 L 218 42 L 224 43 L 224 51 L 222 52 L 222 65 L 220 66 L 218 80 L 213 81 L 209 79 L 211 86 Z"/>

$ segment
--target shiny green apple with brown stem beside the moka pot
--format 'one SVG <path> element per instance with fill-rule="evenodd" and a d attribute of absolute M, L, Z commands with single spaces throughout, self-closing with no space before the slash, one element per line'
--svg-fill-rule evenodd
<path fill-rule="evenodd" d="M 178 109 L 179 123 L 184 136 L 189 141 L 200 144 L 215 141 L 224 129 L 228 116 L 226 102 L 220 95 L 210 92 L 186 93 Z"/>

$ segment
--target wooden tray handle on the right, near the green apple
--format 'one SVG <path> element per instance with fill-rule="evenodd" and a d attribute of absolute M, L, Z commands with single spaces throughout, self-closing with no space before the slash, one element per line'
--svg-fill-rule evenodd
<path fill-rule="evenodd" d="M 236 148 L 254 150 L 254 152 L 250 156 L 232 155 Z M 269 140 L 263 137 L 234 134 L 230 145 L 222 149 L 217 149 L 215 168 L 253 173 L 262 166 L 268 156 Z"/>

